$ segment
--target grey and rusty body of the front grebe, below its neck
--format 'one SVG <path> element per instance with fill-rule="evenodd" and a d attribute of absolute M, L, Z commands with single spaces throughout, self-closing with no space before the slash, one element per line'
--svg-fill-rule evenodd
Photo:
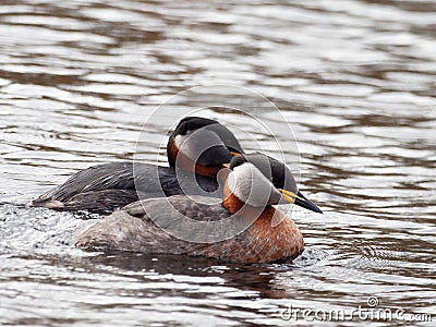
<path fill-rule="evenodd" d="M 205 199 L 203 198 L 202 202 Z M 231 239 L 215 243 L 186 242 L 166 232 L 156 223 L 159 219 L 156 211 L 160 203 L 167 201 L 190 219 L 198 219 L 198 221 L 232 219 L 235 231 L 239 226 L 250 226 L 253 222 L 244 216 L 233 216 L 221 205 L 198 204 L 184 195 L 175 195 L 169 198 L 132 203 L 92 226 L 77 237 L 75 244 L 87 250 L 184 254 L 244 264 L 288 263 L 304 250 L 303 235 L 290 218 L 282 219 L 275 227 L 271 226 L 274 215 L 283 215 L 274 207 L 268 207 L 246 230 Z M 154 218 L 152 219 L 146 213 L 153 215 Z M 164 213 L 164 215 L 171 214 Z M 168 217 L 162 218 L 162 220 L 167 219 Z M 172 228 L 179 228 L 177 221 L 173 223 L 175 226 Z M 227 226 L 226 223 L 222 228 Z M 207 232 L 207 230 L 192 232 Z M 215 230 L 215 232 L 230 233 L 229 230 Z"/>

